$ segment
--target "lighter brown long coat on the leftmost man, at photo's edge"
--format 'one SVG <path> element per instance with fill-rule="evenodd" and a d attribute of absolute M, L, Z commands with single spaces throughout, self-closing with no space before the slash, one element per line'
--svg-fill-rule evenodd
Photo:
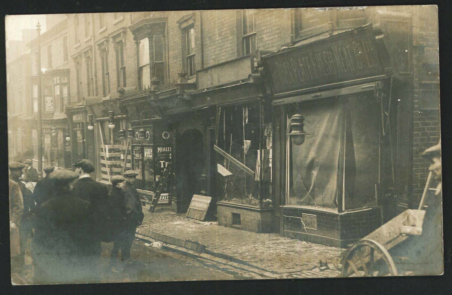
<path fill-rule="evenodd" d="M 24 203 L 19 184 L 10 179 L 10 230 L 11 230 L 11 272 L 19 272 L 23 261 L 21 260 L 21 242 L 19 226 Z"/>

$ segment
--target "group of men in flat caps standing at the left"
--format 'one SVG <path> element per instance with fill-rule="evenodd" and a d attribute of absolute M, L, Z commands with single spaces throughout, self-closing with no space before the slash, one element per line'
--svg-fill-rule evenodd
<path fill-rule="evenodd" d="M 138 174 L 129 170 L 124 177 L 113 176 L 108 193 L 91 178 L 94 165 L 89 160 L 73 166 L 75 172 L 46 167 L 32 193 L 23 181 L 38 180 L 36 169 L 17 161 L 9 165 L 12 272 L 24 266 L 25 248 L 32 238 L 36 283 L 101 281 L 100 242 L 114 242 L 112 271 L 131 262 L 135 230 L 144 217 L 135 188 Z M 123 263 L 118 263 L 119 250 Z"/>

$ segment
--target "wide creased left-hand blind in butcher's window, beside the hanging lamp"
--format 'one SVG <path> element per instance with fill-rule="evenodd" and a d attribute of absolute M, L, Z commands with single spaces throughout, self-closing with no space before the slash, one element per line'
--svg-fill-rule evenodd
<path fill-rule="evenodd" d="M 302 145 L 294 145 L 289 139 L 288 204 L 337 208 L 344 105 L 337 100 L 305 104 L 300 106 L 300 113 L 310 135 L 305 137 Z"/>

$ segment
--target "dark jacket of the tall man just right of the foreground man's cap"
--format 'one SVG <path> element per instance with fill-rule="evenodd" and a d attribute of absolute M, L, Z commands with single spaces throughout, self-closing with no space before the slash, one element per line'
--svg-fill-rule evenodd
<path fill-rule="evenodd" d="M 98 241 L 110 241 L 109 233 L 105 230 L 109 223 L 108 189 L 91 177 L 84 177 L 75 182 L 73 193 L 76 197 L 92 204 L 89 216 L 92 238 Z"/>

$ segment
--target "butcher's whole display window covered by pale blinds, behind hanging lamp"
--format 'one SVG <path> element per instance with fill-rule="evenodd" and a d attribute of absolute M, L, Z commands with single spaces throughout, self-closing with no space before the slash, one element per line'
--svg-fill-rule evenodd
<path fill-rule="evenodd" d="M 358 96 L 293 107 L 309 133 L 301 145 L 287 136 L 287 204 L 337 210 L 376 204 L 379 103 Z"/>

